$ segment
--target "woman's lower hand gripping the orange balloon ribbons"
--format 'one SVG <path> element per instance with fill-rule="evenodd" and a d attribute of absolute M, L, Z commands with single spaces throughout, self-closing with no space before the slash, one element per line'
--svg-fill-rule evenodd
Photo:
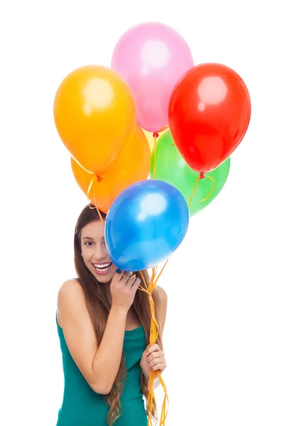
<path fill-rule="evenodd" d="M 160 373 L 165 370 L 167 366 L 165 354 L 160 350 L 158 344 L 155 343 L 152 346 L 148 344 L 145 351 L 143 351 L 140 366 L 147 379 L 149 379 L 152 370 Z"/>

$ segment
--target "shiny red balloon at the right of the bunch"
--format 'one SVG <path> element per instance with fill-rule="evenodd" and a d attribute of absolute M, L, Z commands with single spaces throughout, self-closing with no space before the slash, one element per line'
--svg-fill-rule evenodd
<path fill-rule="evenodd" d="M 187 71 L 170 97 L 169 125 L 178 150 L 200 173 L 217 168 L 239 146 L 251 119 L 246 84 L 226 65 Z"/>

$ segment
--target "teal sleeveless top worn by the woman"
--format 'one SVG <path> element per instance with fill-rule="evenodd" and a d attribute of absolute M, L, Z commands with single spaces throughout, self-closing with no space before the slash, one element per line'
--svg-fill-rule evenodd
<path fill-rule="evenodd" d="M 109 406 L 104 401 L 104 395 L 94 392 L 89 386 L 72 359 L 57 317 L 56 324 L 64 372 L 63 400 L 56 426 L 108 426 Z M 114 426 L 147 426 L 148 424 L 140 384 L 140 361 L 145 349 L 146 336 L 142 325 L 136 329 L 125 331 L 123 350 L 127 377 L 124 391 L 120 397 L 122 414 L 114 422 Z"/>

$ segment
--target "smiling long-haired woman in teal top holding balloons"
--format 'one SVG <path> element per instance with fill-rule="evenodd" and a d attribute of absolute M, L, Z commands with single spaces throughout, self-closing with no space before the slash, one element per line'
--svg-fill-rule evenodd
<path fill-rule="evenodd" d="M 80 214 L 74 244 L 78 276 L 62 284 L 56 313 L 65 376 L 57 426 L 146 426 L 148 378 L 166 367 L 167 295 L 155 286 L 159 337 L 150 346 L 149 299 L 138 289 L 145 288 L 141 274 L 147 284 L 148 274 L 123 274 L 111 263 L 104 222 L 92 204 Z M 152 413 L 157 418 L 155 405 Z"/>

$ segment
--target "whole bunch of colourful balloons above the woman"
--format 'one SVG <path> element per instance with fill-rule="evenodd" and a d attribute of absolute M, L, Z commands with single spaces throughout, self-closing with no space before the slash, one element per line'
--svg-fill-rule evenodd
<path fill-rule="evenodd" d="M 65 77 L 55 125 L 77 184 L 107 213 L 119 268 L 153 267 L 178 248 L 190 215 L 222 190 L 250 116 L 241 77 L 226 65 L 194 65 L 185 39 L 163 23 L 126 31 L 110 68 Z"/>

